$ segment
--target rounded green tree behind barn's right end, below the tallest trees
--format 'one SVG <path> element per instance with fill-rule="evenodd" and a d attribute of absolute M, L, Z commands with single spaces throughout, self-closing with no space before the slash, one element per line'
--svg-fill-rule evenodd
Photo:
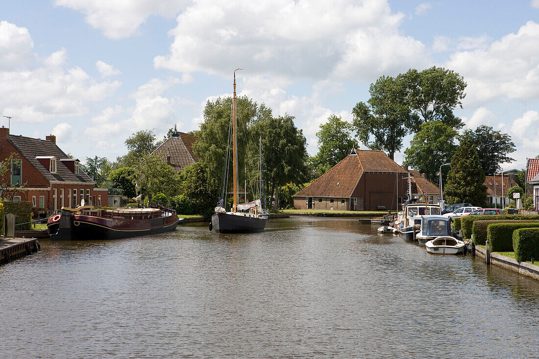
<path fill-rule="evenodd" d="M 423 123 L 410 147 L 404 151 L 404 164 L 426 174 L 429 181 L 438 183 L 440 165 L 448 162 L 457 148 L 453 142 L 457 134 L 457 130 L 441 121 Z"/>

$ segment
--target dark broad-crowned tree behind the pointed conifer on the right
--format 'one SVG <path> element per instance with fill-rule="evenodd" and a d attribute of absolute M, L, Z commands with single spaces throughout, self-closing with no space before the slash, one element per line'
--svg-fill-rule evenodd
<path fill-rule="evenodd" d="M 474 131 L 468 129 L 464 136 L 470 137 L 475 144 L 478 153 L 481 154 L 479 162 L 485 174 L 492 175 L 501 169 L 501 163 L 515 161 L 508 154 L 515 151 L 515 144 L 511 141 L 511 136 L 506 133 L 494 130 L 489 126 L 479 126 Z"/>

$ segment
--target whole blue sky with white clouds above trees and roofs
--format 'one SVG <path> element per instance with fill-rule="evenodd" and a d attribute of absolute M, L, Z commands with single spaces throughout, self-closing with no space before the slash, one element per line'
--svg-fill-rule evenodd
<path fill-rule="evenodd" d="M 539 0 L 0 3 L 0 115 L 83 162 L 114 161 L 139 130 L 198 129 L 239 67 L 238 94 L 294 116 L 314 155 L 319 126 L 351 121 L 372 82 L 432 66 L 467 82 L 465 128 L 512 137 L 503 168 L 539 154 Z"/>

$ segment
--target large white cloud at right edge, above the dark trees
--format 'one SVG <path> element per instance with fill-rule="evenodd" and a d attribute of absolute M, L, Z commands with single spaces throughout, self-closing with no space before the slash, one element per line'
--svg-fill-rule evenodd
<path fill-rule="evenodd" d="M 467 106 L 495 99 L 539 96 L 539 24 L 529 21 L 486 49 L 455 52 L 446 67 L 468 82 Z"/>

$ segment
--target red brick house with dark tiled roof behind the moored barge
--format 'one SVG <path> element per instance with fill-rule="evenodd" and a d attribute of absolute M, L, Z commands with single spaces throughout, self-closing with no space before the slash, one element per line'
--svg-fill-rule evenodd
<path fill-rule="evenodd" d="M 31 202 L 34 217 L 63 206 L 74 207 L 82 199 L 86 205 L 107 206 L 107 189 L 94 188 L 95 182 L 79 168 L 80 161 L 56 145 L 56 136 L 45 140 L 13 136 L 2 126 L 0 158 L 4 161 L 11 154 L 10 169 L 2 178 L 3 190 L 11 192 L 13 201 Z"/>

